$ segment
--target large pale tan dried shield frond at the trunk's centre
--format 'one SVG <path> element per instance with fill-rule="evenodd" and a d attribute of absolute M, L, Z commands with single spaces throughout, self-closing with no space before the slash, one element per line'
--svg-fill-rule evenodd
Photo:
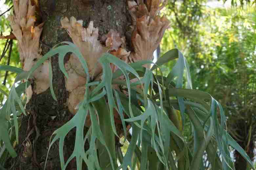
<path fill-rule="evenodd" d="M 90 77 L 99 77 L 102 72 L 101 65 L 97 60 L 103 53 L 108 51 L 98 39 L 98 28 L 90 22 L 87 28 L 84 28 L 82 20 L 76 20 L 71 17 L 70 20 L 65 17 L 61 19 L 61 25 L 67 29 L 67 32 L 75 45 L 81 51 L 84 59 L 87 61 Z M 84 98 L 86 74 L 79 59 L 72 54 L 65 64 L 65 69 L 69 78 L 65 78 L 65 87 L 69 91 L 68 108 L 72 114 L 77 110 L 76 106 Z"/>

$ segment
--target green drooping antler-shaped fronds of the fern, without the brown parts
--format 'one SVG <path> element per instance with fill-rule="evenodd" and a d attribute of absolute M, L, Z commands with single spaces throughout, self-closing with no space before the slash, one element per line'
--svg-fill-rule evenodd
<path fill-rule="evenodd" d="M 58 54 L 60 69 L 68 77 L 63 60 L 67 53 L 72 52 L 78 57 L 86 75 L 89 76 L 87 63 L 78 48 L 71 42 L 64 43 L 66 45 L 50 50 L 29 72 L 10 66 L 0 66 L 0 70 L 19 73 L 15 82 L 22 79 L 29 80 L 36 68 Z M 176 65 L 167 76 L 154 74 L 153 70 L 177 58 Z M 221 105 L 210 94 L 192 89 L 188 63 L 179 50 L 173 49 L 165 53 L 151 70 L 142 66 L 151 64 L 152 61 L 140 61 L 129 65 L 108 53 L 105 53 L 98 61 L 103 68 L 102 79 L 96 82 L 90 82 L 89 78 L 87 79 L 86 93 L 83 101 L 78 105 L 78 112 L 69 122 L 54 131 L 50 142 L 49 150 L 59 139 L 62 170 L 73 158 L 76 158 L 78 170 L 82 169 L 83 162 L 90 170 L 127 169 L 128 166 L 132 169 L 137 166 L 140 170 L 204 169 L 202 158 L 204 151 L 207 153 L 213 170 L 234 169 L 228 150 L 229 145 L 235 148 L 253 168 L 245 151 L 226 132 L 226 120 Z M 112 73 L 110 63 L 119 69 Z M 184 70 L 187 75 L 187 89 L 182 88 Z M 49 73 L 52 81 L 52 70 Z M 120 76 L 124 76 L 125 79 L 117 79 Z M 137 81 L 131 82 L 134 78 L 137 78 Z M 122 86 L 122 90 L 112 89 L 113 84 Z M 16 140 L 18 139 L 17 113 L 24 112 L 25 114 L 20 95 L 29 85 L 30 81 L 18 87 L 14 84 L 7 101 L 0 110 L 0 156 L 7 151 L 12 157 L 16 156 L 12 148 L 13 139 L 10 140 L 9 133 L 12 134 L 11 129 L 14 125 Z M 53 98 L 56 99 L 52 82 L 50 82 L 50 88 Z M 18 108 L 16 103 L 19 109 L 16 109 Z M 128 139 L 126 124 L 132 127 L 132 136 L 125 155 L 119 148 L 116 150 L 115 135 L 120 134 L 117 134 L 114 110 L 120 115 L 125 139 Z M 181 114 L 176 114 L 174 110 L 180 110 Z M 125 118 L 123 113 L 128 118 Z M 84 135 L 83 129 L 87 114 L 90 114 L 91 126 Z M 185 114 L 188 115 L 193 129 L 193 151 L 188 148 L 182 136 Z M 74 151 L 64 162 L 64 138 L 74 127 L 76 127 Z M 90 144 L 88 150 L 84 149 L 86 141 Z M 221 157 L 218 156 L 217 149 Z M 172 154 L 173 151 L 176 156 Z M 117 159 L 120 162 L 119 166 Z"/>

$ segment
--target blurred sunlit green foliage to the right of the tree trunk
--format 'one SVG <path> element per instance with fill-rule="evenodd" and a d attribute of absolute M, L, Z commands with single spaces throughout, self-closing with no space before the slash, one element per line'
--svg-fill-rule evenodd
<path fill-rule="evenodd" d="M 173 24 L 161 50 L 178 47 L 184 51 L 194 88 L 221 102 L 229 132 L 253 160 L 255 5 L 213 9 L 206 1 L 186 2 L 171 3 L 166 9 Z M 166 65 L 166 71 L 172 65 Z"/>

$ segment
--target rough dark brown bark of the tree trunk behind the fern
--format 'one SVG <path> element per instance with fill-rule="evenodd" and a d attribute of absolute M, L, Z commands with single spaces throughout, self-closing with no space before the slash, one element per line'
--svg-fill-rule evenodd
<path fill-rule="evenodd" d="M 130 15 L 125 0 L 39 0 L 40 13 L 44 22 L 41 36 L 42 54 L 47 53 L 55 44 L 71 41 L 60 19 L 74 16 L 90 21 L 99 28 L 99 37 L 115 29 L 125 35 Z M 66 56 L 68 59 L 69 56 Z M 93 57 L 93 56 L 92 56 Z M 45 165 L 50 137 L 54 130 L 72 118 L 67 108 L 68 92 L 65 89 L 65 78 L 58 67 L 58 58 L 52 58 L 53 88 L 58 101 L 54 101 L 50 89 L 41 94 L 33 94 L 27 105 L 28 116 L 23 116 L 19 131 L 19 144 L 15 147 L 18 156 L 8 161 L 8 169 L 39 170 Z M 64 157 L 67 159 L 73 151 L 75 131 L 65 138 Z M 47 170 L 61 169 L 58 145 L 51 148 L 46 165 Z M 76 169 L 75 160 L 67 169 Z"/>

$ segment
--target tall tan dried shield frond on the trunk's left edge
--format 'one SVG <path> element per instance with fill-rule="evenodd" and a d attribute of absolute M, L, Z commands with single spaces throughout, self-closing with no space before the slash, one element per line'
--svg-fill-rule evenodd
<path fill-rule="evenodd" d="M 35 6 L 32 6 L 30 0 L 13 0 L 13 8 L 15 15 L 8 17 L 11 22 L 12 33 L 17 38 L 20 60 L 23 70 L 29 71 L 32 66 L 42 56 L 39 54 L 39 39 L 42 32 L 43 23 L 35 26 Z M 33 73 L 35 77 L 34 88 L 27 90 L 27 102 L 32 96 L 32 93 L 42 93 L 49 87 L 49 66 L 48 61 L 45 61 Z"/>

